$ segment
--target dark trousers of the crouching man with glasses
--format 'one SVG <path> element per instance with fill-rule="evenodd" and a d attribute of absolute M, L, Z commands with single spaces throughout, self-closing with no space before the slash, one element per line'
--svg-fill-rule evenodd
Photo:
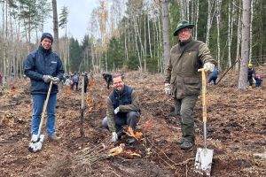
<path fill-rule="evenodd" d="M 139 112 L 128 112 L 126 118 L 120 118 L 118 116 L 114 116 L 115 122 L 115 130 L 118 135 L 121 134 L 122 126 L 129 126 L 136 130 L 137 122 L 139 121 L 140 113 Z M 106 117 L 102 121 L 102 127 L 108 128 L 108 118 Z"/>

